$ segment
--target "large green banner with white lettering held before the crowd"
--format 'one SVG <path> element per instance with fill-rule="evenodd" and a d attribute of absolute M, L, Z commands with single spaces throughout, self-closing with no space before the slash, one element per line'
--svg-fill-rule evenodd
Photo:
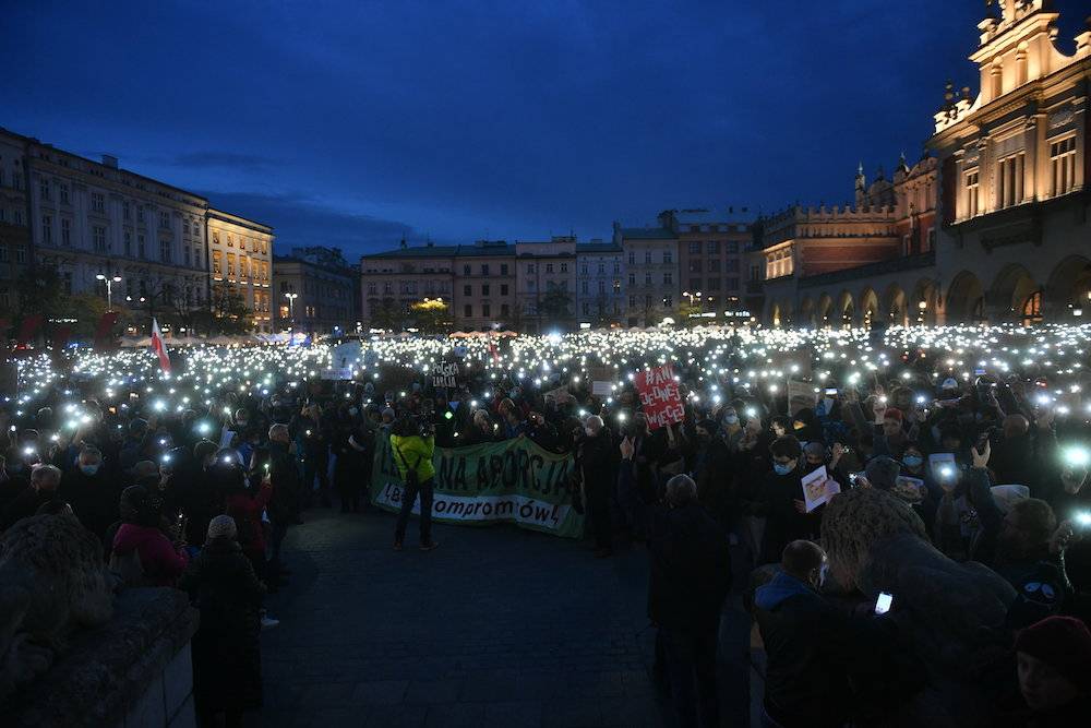
<path fill-rule="evenodd" d="M 542 450 L 526 438 L 467 447 L 436 447 L 432 518 L 441 523 L 515 523 L 567 538 L 584 534 L 584 515 L 572 508 L 572 455 Z M 389 440 L 376 437 L 371 502 L 401 509 L 404 484 Z M 413 503 L 420 513 L 420 501 Z"/>

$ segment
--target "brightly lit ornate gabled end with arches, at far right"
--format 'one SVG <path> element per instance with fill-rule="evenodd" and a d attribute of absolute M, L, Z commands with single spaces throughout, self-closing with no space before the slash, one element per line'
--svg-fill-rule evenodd
<path fill-rule="evenodd" d="M 1047 0 L 1002 0 L 970 55 L 979 92 L 948 87 L 939 158 L 937 283 L 951 321 L 1091 314 L 1091 29 L 1071 56 Z"/>

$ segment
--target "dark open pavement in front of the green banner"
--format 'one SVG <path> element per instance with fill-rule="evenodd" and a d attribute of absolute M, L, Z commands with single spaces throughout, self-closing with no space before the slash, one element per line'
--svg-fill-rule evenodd
<path fill-rule="evenodd" d="M 423 553 L 413 521 L 398 553 L 393 515 L 305 518 L 285 545 L 291 583 L 267 599 L 280 625 L 262 637 L 261 725 L 673 725 L 649 677 L 643 550 L 599 560 L 514 526 L 436 525 Z M 741 656 L 745 635 L 724 632 Z M 745 726 L 746 669 L 721 672 L 723 725 Z"/>

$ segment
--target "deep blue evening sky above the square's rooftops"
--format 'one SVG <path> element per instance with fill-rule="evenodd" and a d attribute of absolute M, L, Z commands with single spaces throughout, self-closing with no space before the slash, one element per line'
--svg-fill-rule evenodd
<path fill-rule="evenodd" d="M 11 7 L 13 5 L 13 7 Z M 349 256 L 843 203 L 910 160 L 982 0 L 11 3 L 0 126 Z M 1063 48 L 1087 0 L 1056 2 Z"/>

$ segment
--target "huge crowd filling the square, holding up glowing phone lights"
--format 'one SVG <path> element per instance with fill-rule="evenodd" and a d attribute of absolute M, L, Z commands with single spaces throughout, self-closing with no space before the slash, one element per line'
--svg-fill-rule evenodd
<path fill-rule="evenodd" d="M 825 468 L 837 490 L 885 492 L 935 550 L 1010 585 L 988 636 L 1010 668 L 991 685 L 997 715 L 1076 725 L 1091 707 L 1089 336 L 591 332 L 520 337 L 501 353 L 410 338 L 372 343 L 355 380 L 333 384 L 315 377 L 333 356 L 322 347 L 195 353 L 156 385 L 130 354 L 68 362 L 67 374 L 39 361 L 23 367 L 26 394 L 0 409 L 0 529 L 71 512 L 125 582 L 189 590 L 202 611 L 199 706 L 237 723 L 260 705 L 259 632 L 276 623 L 263 596 L 287 584 L 281 544 L 309 506 L 367 509 L 386 439 L 406 486 L 394 548 L 419 498 L 428 551 L 434 449 L 526 438 L 572 455 L 572 504 L 596 557 L 648 549 L 657 676 L 681 725 L 719 725 L 724 600 L 768 564 L 779 566 L 750 597 L 765 720 L 880 723 L 927 678 L 887 665 L 884 683 L 868 669 L 908 607 L 897 594 L 864 607 L 836 594 L 822 547 L 831 502 L 808 510 L 801 485 Z M 451 359 L 458 382 L 433 386 L 429 368 Z M 681 416 L 652 427 L 633 373 L 666 363 Z M 734 580 L 733 563 L 746 572 Z M 912 679 L 878 688 L 899 670 Z"/>

